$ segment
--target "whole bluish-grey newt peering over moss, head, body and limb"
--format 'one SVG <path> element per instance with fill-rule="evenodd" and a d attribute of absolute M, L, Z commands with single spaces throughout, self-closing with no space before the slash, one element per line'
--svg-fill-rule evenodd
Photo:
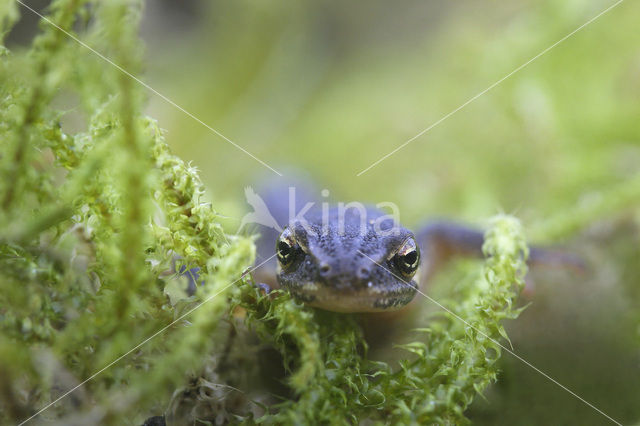
<path fill-rule="evenodd" d="M 317 200 L 304 217 L 290 220 L 313 200 L 312 185 L 303 181 L 293 193 L 282 182 L 267 188 L 264 206 L 283 230 L 258 225 L 256 263 L 273 257 L 274 250 L 277 262 L 261 266 L 254 277 L 314 307 L 353 313 L 398 310 L 447 261 L 482 256 L 484 232 L 457 223 L 431 222 L 414 234 L 376 208 L 359 203 L 320 208 Z M 537 247 L 530 249 L 528 261 L 582 268 L 572 255 Z"/>

